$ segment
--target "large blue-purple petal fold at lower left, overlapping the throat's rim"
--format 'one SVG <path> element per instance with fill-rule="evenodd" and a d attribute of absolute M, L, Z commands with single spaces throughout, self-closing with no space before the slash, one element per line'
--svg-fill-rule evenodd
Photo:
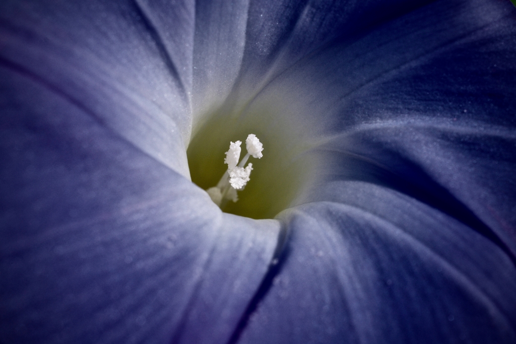
<path fill-rule="evenodd" d="M 0 68 L 0 341 L 227 342 L 280 224 L 207 193 Z"/>

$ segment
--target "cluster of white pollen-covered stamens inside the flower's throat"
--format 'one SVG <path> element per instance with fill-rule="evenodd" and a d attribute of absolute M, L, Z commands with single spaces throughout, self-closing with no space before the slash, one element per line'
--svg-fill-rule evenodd
<path fill-rule="evenodd" d="M 228 170 L 222 175 L 217 186 L 206 190 L 212 201 L 220 208 L 223 208 L 229 200 L 238 201 L 236 190 L 244 190 L 249 182 L 253 164 L 249 162 L 244 168 L 249 157 L 252 155 L 253 158 L 260 159 L 263 156 L 263 144 L 256 135 L 249 134 L 246 139 L 247 154 L 238 162 L 241 144 L 240 141 L 230 142 L 229 151 L 225 152 L 226 157 L 224 158 L 224 163 L 228 164 Z"/>

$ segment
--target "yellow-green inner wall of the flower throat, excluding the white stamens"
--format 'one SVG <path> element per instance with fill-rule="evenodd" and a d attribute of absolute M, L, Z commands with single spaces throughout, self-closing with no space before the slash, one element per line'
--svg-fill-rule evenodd
<path fill-rule="evenodd" d="M 317 164 L 308 153 L 311 145 L 304 127 L 294 122 L 294 113 L 278 105 L 261 104 L 245 110 L 222 107 L 201 118 L 205 121 L 194 125 L 187 157 L 192 182 L 204 190 L 216 186 L 228 171 L 224 158 L 230 142 L 245 141 L 252 133 L 264 147 L 262 158 L 251 159 L 251 180 L 238 190 L 237 202 L 224 202 L 224 212 L 271 219 L 301 202 Z"/>

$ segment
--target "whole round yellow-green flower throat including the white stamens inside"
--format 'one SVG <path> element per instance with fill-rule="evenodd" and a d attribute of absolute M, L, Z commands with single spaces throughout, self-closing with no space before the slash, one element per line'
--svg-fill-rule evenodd
<path fill-rule="evenodd" d="M 307 133 L 314 125 L 296 117 L 281 95 L 228 102 L 193 127 L 186 152 L 191 181 L 224 212 L 273 219 L 314 184 L 320 156 L 310 153 L 314 140 Z"/>

